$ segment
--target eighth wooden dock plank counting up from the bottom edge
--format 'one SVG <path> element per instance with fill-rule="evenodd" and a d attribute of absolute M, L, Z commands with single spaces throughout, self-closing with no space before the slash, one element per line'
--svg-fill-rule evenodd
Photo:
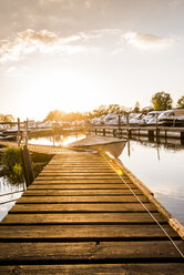
<path fill-rule="evenodd" d="M 95 183 L 90 183 L 90 184 L 37 184 L 33 183 L 31 184 L 28 190 L 127 190 L 127 186 L 125 184 L 95 184 Z M 135 190 L 136 187 L 131 184 L 131 189 Z"/>

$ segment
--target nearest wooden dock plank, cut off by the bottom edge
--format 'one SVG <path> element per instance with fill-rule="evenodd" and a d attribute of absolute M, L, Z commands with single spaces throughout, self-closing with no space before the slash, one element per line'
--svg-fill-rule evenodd
<path fill-rule="evenodd" d="M 183 263 L 136 263 L 136 264 L 62 264 L 62 265 L 9 265 L 1 266 L 0 273 L 3 275 L 19 274 L 19 275 L 91 275 L 91 274 L 106 274 L 106 275 L 183 275 Z"/>

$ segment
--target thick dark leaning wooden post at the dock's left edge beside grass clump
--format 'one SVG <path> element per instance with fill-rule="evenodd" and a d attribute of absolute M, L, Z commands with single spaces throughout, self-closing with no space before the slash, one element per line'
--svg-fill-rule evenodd
<path fill-rule="evenodd" d="M 21 155 L 22 155 L 24 179 L 28 187 L 33 182 L 34 177 L 32 171 L 31 156 L 27 145 L 23 146 L 23 150 L 21 151 Z"/>

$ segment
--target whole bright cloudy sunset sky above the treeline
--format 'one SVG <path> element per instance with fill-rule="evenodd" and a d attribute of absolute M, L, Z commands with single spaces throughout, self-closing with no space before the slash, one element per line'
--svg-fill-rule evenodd
<path fill-rule="evenodd" d="M 184 0 L 0 0 L 0 113 L 184 95 Z"/>

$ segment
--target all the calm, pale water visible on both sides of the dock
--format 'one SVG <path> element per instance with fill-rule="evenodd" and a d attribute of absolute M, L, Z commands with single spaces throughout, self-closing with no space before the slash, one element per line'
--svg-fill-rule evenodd
<path fill-rule="evenodd" d="M 62 145 L 83 139 L 83 134 L 70 136 L 50 136 L 32 139 L 34 144 Z M 178 144 L 174 144 L 178 143 Z M 111 145 L 123 164 L 132 171 L 152 192 L 155 198 L 184 225 L 184 145 L 174 141 L 173 145 L 156 144 L 141 141 L 130 141 L 125 144 Z M 105 147 L 108 150 L 108 147 Z M 7 179 L 0 177 L 0 193 L 22 190 L 22 186 L 11 186 Z M 0 197 L 0 202 L 13 200 L 20 194 Z M 13 203 L 0 205 L 0 220 L 11 208 Z"/>

